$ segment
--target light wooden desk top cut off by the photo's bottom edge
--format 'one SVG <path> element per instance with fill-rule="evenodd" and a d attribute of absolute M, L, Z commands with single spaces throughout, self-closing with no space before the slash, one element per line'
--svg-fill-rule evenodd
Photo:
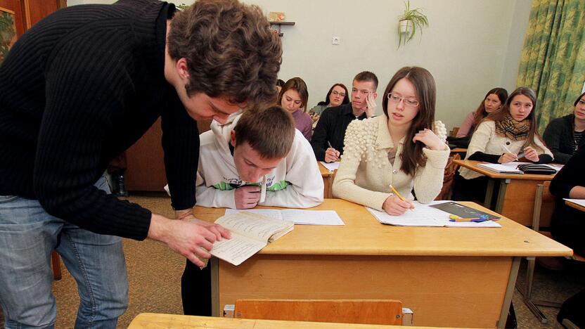
<path fill-rule="evenodd" d="M 349 323 L 324 323 L 304 321 L 250 320 L 245 318 L 218 318 L 211 316 L 184 316 L 179 314 L 142 313 L 136 316 L 129 329 L 153 328 L 210 328 L 210 329 L 374 329 L 404 328 L 399 325 L 361 325 Z M 437 329 L 430 327 L 407 327 L 413 329 Z"/>

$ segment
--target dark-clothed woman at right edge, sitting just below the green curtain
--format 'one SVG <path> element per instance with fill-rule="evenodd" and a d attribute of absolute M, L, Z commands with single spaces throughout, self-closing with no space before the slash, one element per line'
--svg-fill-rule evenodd
<path fill-rule="evenodd" d="M 573 105 L 574 113 L 549 122 L 542 136 L 558 163 L 567 163 L 585 145 L 585 93 Z"/>

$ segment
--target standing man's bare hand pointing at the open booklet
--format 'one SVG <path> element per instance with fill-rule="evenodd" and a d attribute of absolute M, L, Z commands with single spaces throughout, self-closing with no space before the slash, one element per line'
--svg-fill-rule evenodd
<path fill-rule="evenodd" d="M 205 266 L 201 259 L 211 257 L 217 236 L 205 226 L 192 221 L 168 219 L 158 214 L 150 218 L 148 238 L 165 243 L 197 266 Z"/>

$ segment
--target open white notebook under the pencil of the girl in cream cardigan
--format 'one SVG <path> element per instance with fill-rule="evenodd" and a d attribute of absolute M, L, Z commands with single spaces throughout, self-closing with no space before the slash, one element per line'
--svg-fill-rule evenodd
<path fill-rule="evenodd" d="M 449 201 L 431 202 L 430 205 Z M 473 221 L 449 221 L 449 213 L 440 209 L 423 205 L 422 203 L 413 201 L 414 209 L 407 210 L 400 216 L 392 216 L 386 212 L 380 212 L 375 209 L 366 207 L 371 214 L 374 215 L 382 224 L 390 224 L 395 226 L 435 226 L 435 227 L 501 227 L 495 221 L 482 221 L 475 223 Z"/>

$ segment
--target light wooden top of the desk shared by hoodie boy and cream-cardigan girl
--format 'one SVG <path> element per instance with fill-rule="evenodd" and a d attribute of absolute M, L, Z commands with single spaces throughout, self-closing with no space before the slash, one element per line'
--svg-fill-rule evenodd
<path fill-rule="evenodd" d="M 483 212 L 473 202 L 461 202 Z M 260 208 L 260 207 L 258 207 Z M 384 256 L 571 256 L 572 250 L 507 218 L 501 228 L 405 227 L 380 224 L 362 205 L 326 199 L 310 209 L 335 209 L 345 226 L 295 225 L 260 254 Z M 214 221 L 224 209 L 195 207 L 199 219 Z"/>

